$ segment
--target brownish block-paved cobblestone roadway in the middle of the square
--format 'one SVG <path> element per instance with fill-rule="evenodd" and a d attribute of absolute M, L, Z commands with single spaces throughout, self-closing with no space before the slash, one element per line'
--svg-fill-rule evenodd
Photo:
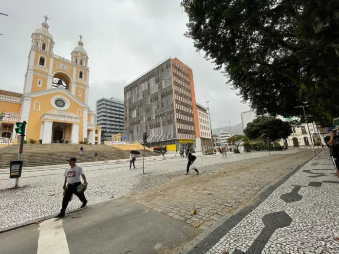
<path fill-rule="evenodd" d="M 295 154 L 271 154 L 242 162 L 229 162 L 192 170 L 145 176 L 130 198 L 155 211 L 207 230 L 239 205 L 250 202 L 256 193 L 285 173 L 312 158 L 304 149 Z M 190 212 L 195 209 L 195 215 Z"/>

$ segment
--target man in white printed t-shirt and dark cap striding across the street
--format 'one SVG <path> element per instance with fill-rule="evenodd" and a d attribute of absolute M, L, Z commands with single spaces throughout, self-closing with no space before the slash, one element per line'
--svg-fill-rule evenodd
<path fill-rule="evenodd" d="M 61 207 L 60 213 L 57 215 L 57 217 L 59 218 L 65 217 L 66 208 L 73 194 L 77 196 L 79 200 L 82 202 L 82 205 L 80 206 L 80 208 L 84 208 L 87 205 L 85 194 L 78 193 L 76 190 L 77 186 L 81 184 L 80 176 L 84 180 L 84 184 L 85 185 L 88 184 L 88 182 L 86 181 L 85 174 L 82 170 L 82 167 L 75 164 L 76 163 L 75 157 L 72 157 L 71 159 L 67 161 L 70 166 L 65 170 L 65 173 L 64 173 L 65 182 L 64 182 L 63 189 L 65 190 L 65 195 L 62 199 L 62 207 Z M 67 187 L 66 187 L 66 183 L 67 183 Z"/>

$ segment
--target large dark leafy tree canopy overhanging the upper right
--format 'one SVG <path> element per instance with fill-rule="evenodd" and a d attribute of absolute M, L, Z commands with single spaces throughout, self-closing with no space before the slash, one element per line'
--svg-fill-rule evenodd
<path fill-rule="evenodd" d="M 181 0 L 187 37 L 258 115 L 338 117 L 338 0 Z"/>

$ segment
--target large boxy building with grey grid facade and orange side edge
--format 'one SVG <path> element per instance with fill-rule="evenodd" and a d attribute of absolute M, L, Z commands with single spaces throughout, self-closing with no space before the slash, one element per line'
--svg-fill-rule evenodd
<path fill-rule="evenodd" d="M 128 141 L 195 149 L 200 137 L 192 70 L 168 58 L 125 86 L 125 135 Z"/>

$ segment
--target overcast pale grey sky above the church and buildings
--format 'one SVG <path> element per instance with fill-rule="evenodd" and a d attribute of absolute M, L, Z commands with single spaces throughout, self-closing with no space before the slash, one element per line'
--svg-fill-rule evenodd
<path fill-rule="evenodd" d="M 0 89 L 22 92 L 31 34 L 50 18 L 54 54 L 70 59 L 82 34 L 89 56 L 89 106 L 101 97 L 123 96 L 124 86 L 167 57 L 193 70 L 197 103 L 210 100 L 212 127 L 241 122 L 249 110 L 226 78 L 185 38 L 188 18 L 178 0 L 15 0 L 2 1 Z"/>

